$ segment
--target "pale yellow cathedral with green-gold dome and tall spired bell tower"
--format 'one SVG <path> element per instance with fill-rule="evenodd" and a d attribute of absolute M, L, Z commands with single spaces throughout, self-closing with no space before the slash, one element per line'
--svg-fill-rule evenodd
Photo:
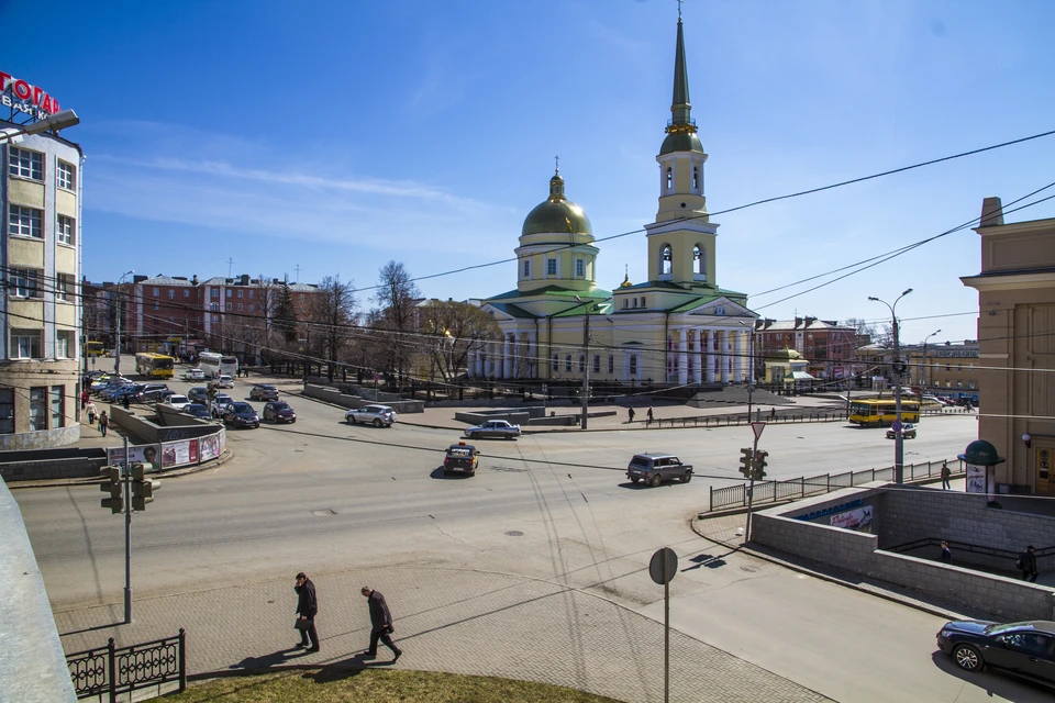
<path fill-rule="evenodd" d="M 590 220 L 565 194 L 559 168 L 549 197 L 524 220 L 517 247 L 517 288 L 482 309 L 499 341 L 471 346 L 468 376 L 531 381 L 741 383 L 749 380 L 747 295 L 718 284 L 718 223 L 703 192 L 707 154 L 689 102 L 678 18 L 671 119 L 656 161 L 659 208 L 645 225 L 648 280 L 629 276 L 614 291 L 597 287 Z"/>

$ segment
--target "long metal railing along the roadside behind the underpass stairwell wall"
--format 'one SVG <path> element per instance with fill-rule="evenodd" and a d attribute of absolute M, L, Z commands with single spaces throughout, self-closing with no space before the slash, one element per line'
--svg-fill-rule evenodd
<path fill-rule="evenodd" d="M 940 478 L 942 465 L 945 461 L 928 461 L 925 464 L 904 464 L 902 473 L 906 482 Z M 948 459 L 948 468 L 953 476 L 964 473 L 964 462 L 959 459 Z M 893 467 L 885 469 L 865 469 L 863 471 L 845 471 L 843 473 L 822 473 L 809 478 L 789 479 L 786 481 L 759 481 L 755 483 L 753 505 L 778 503 L 793 498 L 820 495 L 841 488 L 860 486 L 871 481 L 892 481 Z M 711 504 L 708 510 L 715 511 L 724 507 L 746 507 L 747 484 L 737 483 L 724 488 L 711 487 Z"/>

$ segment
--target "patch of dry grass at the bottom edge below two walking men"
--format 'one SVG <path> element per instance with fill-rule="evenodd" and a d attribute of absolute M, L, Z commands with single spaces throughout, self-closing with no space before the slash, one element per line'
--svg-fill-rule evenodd
<path fill-rule="evenodd" d="M 433 671 L 298 669 L 211 679 L 169 695 L 173 703 L 619 703 L 547 683 Z"/>

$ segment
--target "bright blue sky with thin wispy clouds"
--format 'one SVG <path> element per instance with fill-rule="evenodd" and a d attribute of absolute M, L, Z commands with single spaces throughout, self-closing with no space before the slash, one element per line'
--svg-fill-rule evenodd
<path fill-rule="evenodd" d="M 890 311 L 869 295 L 912 288 L 902 343 L 976 338 L 970 228 L 833 279 L 1055 181 L 1055 135 L 718 213 L 1055 130 L 1055 3 L 681 12 L 718 283 L 765 317 L 875 324 Z M 677 19 L 676 0 L 0 0 L 0 70 L 81 119 L 63 135 L 87 156 L 89 280 L 340 276 L 368 309 L 390 260 L 430 298 L 515 288 L 555 156 L 599 239 L 598 286 L 646 280 Z M 1007 221 L 1052 216 L 1055 200 Z"/>

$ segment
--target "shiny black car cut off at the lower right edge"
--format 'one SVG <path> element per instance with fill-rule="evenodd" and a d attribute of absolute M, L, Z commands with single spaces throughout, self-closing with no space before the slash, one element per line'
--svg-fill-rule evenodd
<path fill-rule="evenodd" d="M 1055 687 L 1055 622 L 953 621 L 937 633 L 937 647 L 965 671 L 991 667 Z"/>

